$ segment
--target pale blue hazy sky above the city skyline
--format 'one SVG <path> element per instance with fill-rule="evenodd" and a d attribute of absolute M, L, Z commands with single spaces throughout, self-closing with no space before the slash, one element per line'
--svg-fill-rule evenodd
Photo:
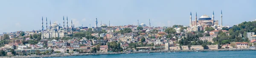
<path fill-rule="evenodd" d="M 256 0 L 0 0 L 0 34 L 3 32 L 41 30 L 41 18 L 61 23 L 63 16 L 75 27 L 137 25 L 148 19 L 151 26 L 189 25 L 189 14 L 195 20 L 204 14 L 219 20 L 222 10 L 223 25 L 236 25 L 256 19 Z M 44 28 L 46 29 L 46 28 Z"/>

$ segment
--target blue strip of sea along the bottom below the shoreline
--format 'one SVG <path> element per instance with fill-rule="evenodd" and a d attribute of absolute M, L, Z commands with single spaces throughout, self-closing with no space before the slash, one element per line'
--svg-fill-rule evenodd
<path fill-rule="evenodd" d="M 48 58 L 256 58 L 256 51 L 162 52 Z"/>

